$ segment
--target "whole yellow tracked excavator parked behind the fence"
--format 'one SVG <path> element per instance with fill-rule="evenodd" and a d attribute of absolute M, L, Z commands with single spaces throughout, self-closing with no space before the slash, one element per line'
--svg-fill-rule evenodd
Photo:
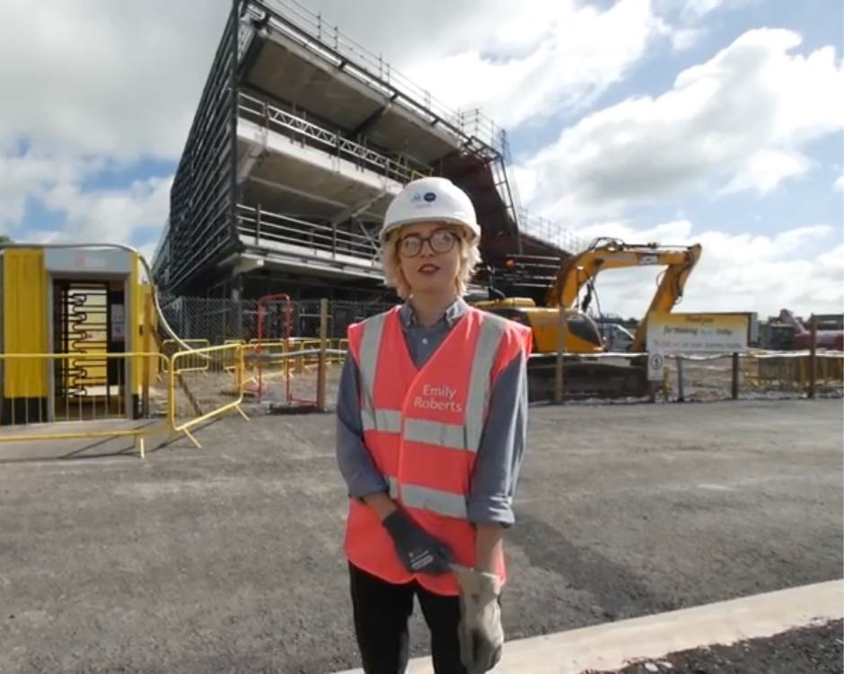
<path fill-rule="evenodd" d="M 677 304 L 700 253 L 700 244 L 626 244 L 620 239 L 602 237 L 582 253 L 558 263 L 556 268 L 555 258 L 514 255 L 505 262 L 507 278 L 519 285 L 535 284 L 539 279 L 546 285 L 544 302 L 537 304 L 531 297 L 506 297 L 493 280 L 489 298 L 471 303 L 531 327 L 533 355 L 528 377 L 532 400 L 549 400 L 554 395 L 560 309 L 566 313 L 567 324 L 563 376 L 566 394 L 639 397 L 648 393 L 647 358 L 641 355 L 646 350 L 647 319 L 654 312 L 669 312 Z M 615 362 L 590 358 L 590 354 L 607 350 L 598 325 L 586 313 L 593 297 L 595 277 L 602 270 L 647 265 L 664 266 L 665 270 L 646 315 L 638 324 L 629 349 L 631 355 L 613 359 Z M 584 288 L 584 300 L 578 303 Z"/>

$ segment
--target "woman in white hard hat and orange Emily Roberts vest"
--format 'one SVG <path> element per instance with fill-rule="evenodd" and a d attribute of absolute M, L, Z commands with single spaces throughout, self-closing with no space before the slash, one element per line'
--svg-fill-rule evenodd
<path fill-rule="evenodd" d="M 348 329 L 337 456 L 367 674 L 404 671 L 414 597 L 436 674 L 500 659 L 503 532 L 514 521 L 532 337 L 462 299 L 479 236 L 452 182 L 410 182 L 381 231 L 384 276 L 404 303 Z"/>

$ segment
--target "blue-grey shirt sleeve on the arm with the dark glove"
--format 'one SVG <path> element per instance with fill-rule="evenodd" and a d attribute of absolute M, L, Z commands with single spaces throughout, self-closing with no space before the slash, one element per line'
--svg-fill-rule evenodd
<path fill-rule="evenodd" d="M 348 356 L 338 386 L 335 451 L 348 494 L 357 499 L 374 492 L 387 491 L 387 483 L 364 445 L 363 424 L 357 402 L 359 381 L 355 360 Z"/>

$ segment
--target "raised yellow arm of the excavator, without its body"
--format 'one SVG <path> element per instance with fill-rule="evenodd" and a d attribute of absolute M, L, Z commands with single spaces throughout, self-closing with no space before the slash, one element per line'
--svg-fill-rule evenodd
<path fill-rule="evenodd" d="M 670 311 L 682 297 L 686 280 L 697 264 L 700 253 L 700 244 L 663 247 L 657 244 L 625 244 L 612 238 L 595 239 L 583 253 L 573 255 L 560 265 L 557 278 L 549 288 L 546 303 L 548 306 L 571 308 L 580 290 L 602 270 L 645 265 L 666 267 L 630 347 L 631 351 L 641 351 L 645 347 L 648 316 L 655 311 Z"/>

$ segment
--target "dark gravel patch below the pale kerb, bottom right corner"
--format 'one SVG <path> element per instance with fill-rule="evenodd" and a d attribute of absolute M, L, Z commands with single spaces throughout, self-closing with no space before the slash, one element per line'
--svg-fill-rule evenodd
<path fill-rule="evenodd" d="M 589 670 L 588 674 L 840 674 L 844 671 L 842 621 L 810 625 L 764 639 L 748 639 L 641 661 L 621 670 Z"/>

